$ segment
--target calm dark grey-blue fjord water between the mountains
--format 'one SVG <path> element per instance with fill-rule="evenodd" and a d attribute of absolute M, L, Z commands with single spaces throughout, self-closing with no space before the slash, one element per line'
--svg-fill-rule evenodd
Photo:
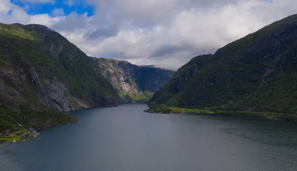
<path fill-rule="evenodd" d="M 81 123 L 0 146 L 0 171 L 297 171 L 296 124 L 252 117 L 72 111 Z"/>

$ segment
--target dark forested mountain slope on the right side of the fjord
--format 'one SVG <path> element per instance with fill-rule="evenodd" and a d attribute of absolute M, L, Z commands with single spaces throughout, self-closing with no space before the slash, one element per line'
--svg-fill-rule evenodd
<path fill-rule="evenodd" d="M 297 15 L 179 68 L 148 103 L 296 114 Z"/>

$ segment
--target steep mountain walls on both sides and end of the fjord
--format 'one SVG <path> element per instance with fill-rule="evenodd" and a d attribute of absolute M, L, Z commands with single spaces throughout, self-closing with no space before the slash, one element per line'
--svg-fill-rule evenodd
<path fill-rule="evenodd" d="M 147 111 L 157 113 L 296 118 L 297 15 L 199 55 L 176 72 L 89 57 L 42 25 L 0 24 L 0 37 L 1 132 L 16 124 L 74 123 L 60 111 L 124 103 L 148 103 Z"/>

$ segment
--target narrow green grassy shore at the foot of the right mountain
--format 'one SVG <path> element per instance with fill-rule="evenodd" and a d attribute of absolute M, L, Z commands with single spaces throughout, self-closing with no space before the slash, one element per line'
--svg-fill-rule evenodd
<path fill-rule="evenodd" d="M 149 113 L 196 113 L 196 114 L 224 114 L 224 115 L 248 115 L 257 116 L 267 119 L 282 120 L 288 122 L 297 122 L 297 115 L 285 113 L 272 113 L 272 112 L 256 112 L 256 111 L 236 111 L 236 110 L 214 110 L 214 109 L 194 109 L 194 108 L 181 108 L 181 107 L 168 107 L 158 106 L 151 107 L 145 112 Z"/>

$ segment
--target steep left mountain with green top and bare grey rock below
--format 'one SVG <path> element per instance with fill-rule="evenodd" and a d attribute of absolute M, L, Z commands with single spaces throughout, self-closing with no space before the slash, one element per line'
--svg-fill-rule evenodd
<path fill-rule="evenodd" d="M 11 125 L 20 120 L 24 124 L 51 122 L 55 118 L 41 119 L 46 115 L 40 111 L 48 108 L 64 111 L 116 106 L 121 101 L 95 69 L 92 58 L 62 35 L 41 25 L 0 24 L 0 103 L 4 106 L 1 111 L 8 107 L 27 113 L 18 120 L 1 117 L 3 124 Z M 40 115 L 28 116 L 34 113 L 28 110 Z M 1 113 L 7 116 L 11 112 Z"/>

